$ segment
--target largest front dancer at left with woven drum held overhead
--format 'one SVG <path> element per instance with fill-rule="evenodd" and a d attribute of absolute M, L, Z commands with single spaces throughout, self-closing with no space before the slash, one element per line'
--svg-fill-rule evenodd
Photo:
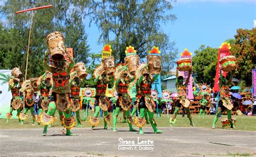
<path fill-rule="evenodd" d="M 45 70 L 52 73 L 53 87 L 52 94 L 49 103 L 49 109 L 47 113 L 42 112 L 39 116 L 41 123 L 44 126 L 42 135 L 46 135 L 48 125 L 56 121 L 55 114 L 56 108 L 59 111 L 64 112 L 65 117 L 62 119 L 62 123 L 66 128 L 66 135 L 76 135 L 71 133 L 70 129 L 75 125 L 75 118 L 71 117 L 70 110 L 70 73 L 75 63 L 69 53 L 66 52 L 64 45 L 64 37 L 60 32 L 53 32 L 47 37 L 49 49 L 51 52 L 51 58 L 53 66 L 47 65 L 49 51 L 45 53 L 43 67 Z M 58 53 L 58 58 L 53 58 L 53 55 Z M 65 60 L 63 54 L 66 54 L 69 58 L 70 64 Z"/>

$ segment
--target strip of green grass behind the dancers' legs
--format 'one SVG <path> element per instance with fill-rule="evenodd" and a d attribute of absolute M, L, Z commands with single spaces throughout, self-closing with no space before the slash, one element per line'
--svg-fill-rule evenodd
<path fill-rule="evenodd" d="M 89 116 L 92 116 L 93 113 L 89 112 Z M 32 124 L 32 116 L 30 115 L 30 113 L 28 113 L 29 118 L 25 120 L 24 125 L 20 125 L 18 122 L 18 119 L 10 119 L 9 123 L 6 123 L 6 119 L 0 119 L 0 129 L 32 129 L 32 128 L 43 128 L 42 125 L 35 125 Z M 55 116 L 57 116 L 59 118 L 58 113 L 55 114 Z M 82 113 L 80 113 L 80 116 L 82 117 Z M 169 127 L 169 118 L 167 117 L 167 115 L 162 115 L 161 118 L 157 118 L 156 114 L 155 116 L 155 120 L 157 122 L 157 126 L 159 127 Z M 171 115 L 169 115 L 170 117 Z M 206 115 L 205 118 L 198 118 L 198 115 L 192 115 L 193 117 L 193 122 L 194 125 L 196 125 L 196 127 L 208 127 L 210 128 L 212 126 L 213 123 L 213 119 L 214 119 L 214 115 Z M 226 115 L 222 116 L 223 118 L 226 118 Z M 232 118 L 236 118 L 237 122 L 236 122 L 236 126 L 237 126 L 237 130 L 244 130 L 244 131 L 256 131 L 256 116 L 232 116 Z M 89 117 L 86 118 L 85 122 L 82 122 L 83 127 L 91 127 L 90 123 L 88 122 Z M 97 127 L 103 127 L 103 118 L 100 118 L 100 124 Z M 77 126 L 77 125 L 76 125 Z M 113 126 L 113 121 L 111 118 L 111 122 L 109 124 L 109 127 L 112 129 Z M 134 129 L 137 129 L 136 125 L 133 125 Z M 150 124 L 146 124 L 145 126 L 150 127 Z M 60 124 L 60 121 L 57 120 L 57 122 L 52 124 L 52 127 L 62 127 Z M 123 112 L 120 112 L 119 116 L 118 116 L 118 122 L 117 122 L 117 128 L 118 127 L 128 127 L 128 124 L 123 123 Z M 173 127 L 191 127 L 190 126 L 190 122 L 188 120 L 188 118 L 186 117 L 182 117 L 181 115 L 177 115 L 177 122 L 176 124 L 173 125 Z M 218 120 L 218 122 L 215 125 L 215 128 L 222 128 L 222 124 L 220 122 L 220 119 Z"/>

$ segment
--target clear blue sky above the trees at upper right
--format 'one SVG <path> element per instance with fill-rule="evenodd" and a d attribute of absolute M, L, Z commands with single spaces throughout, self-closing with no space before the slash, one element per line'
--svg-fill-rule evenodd
<path fill-rule="evenodd" d="M 185 48 L 193 53 L 201 45 L 219 47 L 226 39 L 234 38 L 238 28 L 253 28 L 253 19 L 256 19 L 256 2 L 254 0 L 177 0 L 171 12 L 177 15 L 177 20 L 173 24 L 163 25 L 162 30 L 170 35 L 170 41 L 176 42 L 179 54 Z M 100 52 L 103 44 L 97 44 L 98 28 L 86 25 L 86 33 L 91 52 Z"/>

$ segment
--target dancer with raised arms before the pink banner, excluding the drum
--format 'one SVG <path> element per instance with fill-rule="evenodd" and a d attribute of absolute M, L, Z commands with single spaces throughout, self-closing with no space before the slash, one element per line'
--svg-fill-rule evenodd
<path fill-rule="evenodd" d="M 186 88 L 190 80 L 191 71 L 192 70 L 188 72 L 187 80 L 185 84 L 183 84 L 183 76 L 179 76 L 178 68 L 176 70 L 177 79 L 176 79 L 175 85 L 178 91 L 178 97 L 175 102 L 175 110 L 174 110 L 173 116 L 170 118 L 170 121 L 169 121 L 171 126 L 176 122 L 176 116 L 178 114 L 178 111 L 181 108 L 181 105 L 183 105 L 183 107 L 185 108 L 185 111 L 187 112 L 187 118 L 190 120 L 190 125 L 194 127 L 192 116 L 190 114 L 190 106 L 189 106 L 190 101 L 186 99 Z"/>

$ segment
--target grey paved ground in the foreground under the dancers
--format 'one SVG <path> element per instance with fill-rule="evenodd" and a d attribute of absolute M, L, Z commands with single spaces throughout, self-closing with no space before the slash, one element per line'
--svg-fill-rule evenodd
<path fill-rule="evenodd" d="M 3 129 L 0 130 L 0 155 L 256 155 L 256 132 L 199 127 L 160 129 L 165 132 L 154 134 L 152 129 L 147 127 L 144 129 L 145 134 L 140 135 L 138 132 L 127 131 L 127 128 L 119 128 L 116 133 L 112 130 L 75 128 L 72 131 L 79 134 L 76 137 L 63 135 L 61 128 L 49 128 L 46 137 L 41 136 L 42 129 Z M 120 146 L 120 138 L 126 146 Z M 127 142 L 132 146 L 127 146 Z M 121 148 L 130 150 L 118 150 Z"/>

